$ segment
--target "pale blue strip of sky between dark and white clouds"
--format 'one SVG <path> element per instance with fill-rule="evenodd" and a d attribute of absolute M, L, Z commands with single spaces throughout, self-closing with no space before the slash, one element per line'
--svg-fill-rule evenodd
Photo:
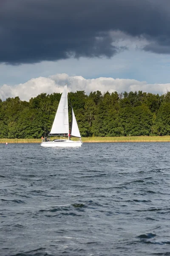
<path fill-rule="evenodd" d="M 0 85 L 24 83 L 31 78 L 67 73 L 86 79 L 113 77 L 148 83 L 170 82 L 170 55 L 126 50 L 112 58 L 79 58 L 42 61 L 36 64 L 0 64 Z"/>

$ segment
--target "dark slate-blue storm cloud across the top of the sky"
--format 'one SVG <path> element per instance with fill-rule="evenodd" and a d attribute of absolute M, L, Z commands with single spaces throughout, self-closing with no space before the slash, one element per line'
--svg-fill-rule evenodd
<path fill-rule="evenodd" d="M 0 62 L 111 57 L 112 30 L 150 41 L 144 49 L 170 53 L 169 0 L 1 0 Z"/>

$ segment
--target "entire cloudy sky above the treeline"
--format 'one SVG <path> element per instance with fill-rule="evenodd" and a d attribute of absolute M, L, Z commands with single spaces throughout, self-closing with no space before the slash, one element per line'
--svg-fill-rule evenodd
<path fill-rule="evenodd" d="M 0 98 L 170 91 L 169 0 L 1 0 Z"/>

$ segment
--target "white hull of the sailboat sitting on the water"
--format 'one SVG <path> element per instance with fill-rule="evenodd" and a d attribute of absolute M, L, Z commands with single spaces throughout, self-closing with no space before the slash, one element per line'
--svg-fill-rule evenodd
<path fill-rule="evenodd" d="M 42 142 L 41 147 L 61 147 L 61 148 L 68 148 L 68 147 L 81 147 L 82 141 L 73 141 L 73 140 L 55 140 L 55 141 L 48 141 Z"/>

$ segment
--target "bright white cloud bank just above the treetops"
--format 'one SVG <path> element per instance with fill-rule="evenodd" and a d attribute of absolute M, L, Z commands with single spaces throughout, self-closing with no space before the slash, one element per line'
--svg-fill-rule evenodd
<path fill-rule="evenodd" d="M 85 79 L 82 76 L 68 76 L 68 74 L 56 74 L 47 77 L 33 78 L 26 83 L 10 86 L 4 84 L 0 87 L 0 98 L 5 100 L 8 97 L 19 96 L 21 100 L 28 101 L 40 93 L 61 93 L 63 86 L 68 84 L 68 91 L 76 92 L 85 90 L 89 94 L 91 91 L 99 90 L 102 93 L 117 91 L 139 91 L 164 94 L 170 91 L 170 83 L 167 84 L 147 84 L 146 81 L 135 79 L 113 79 L 111 77 L 99 77 L 96 79 Z"/>

